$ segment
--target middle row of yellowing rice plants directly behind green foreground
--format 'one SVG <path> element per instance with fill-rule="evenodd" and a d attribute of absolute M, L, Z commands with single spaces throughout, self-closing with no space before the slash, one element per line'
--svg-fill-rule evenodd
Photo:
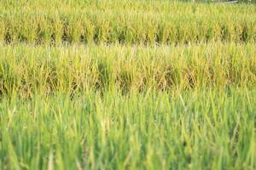
<path fill-rule="evenodd" d="M 84 90 L 123 93 L 227 89 L 256 83 L 254 44 L 0 47 L 0 92 L 27 96 Z"/>

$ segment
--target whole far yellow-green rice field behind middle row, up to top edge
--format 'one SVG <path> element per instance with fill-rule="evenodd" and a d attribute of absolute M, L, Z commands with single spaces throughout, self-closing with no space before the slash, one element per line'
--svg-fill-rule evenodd
<path fill-rule="evenodd" d="M 0 40 L 6 43 L 256 41 L 254 4 L 228 6 L 166 0 L 3 2 Z"/>

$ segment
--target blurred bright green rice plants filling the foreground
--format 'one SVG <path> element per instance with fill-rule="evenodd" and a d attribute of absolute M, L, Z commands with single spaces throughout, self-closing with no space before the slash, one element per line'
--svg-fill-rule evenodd
<path fill-rule="evenodd" d="M 1 102 L 6 169 L 254 169 L 256 92 L 36 95 Z"/>

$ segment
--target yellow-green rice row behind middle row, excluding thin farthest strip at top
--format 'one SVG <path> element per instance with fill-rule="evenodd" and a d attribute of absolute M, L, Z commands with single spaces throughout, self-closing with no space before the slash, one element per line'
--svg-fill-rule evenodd
<path fill-rule="evenodd" d="M 3 10 L 0 16 L 0 41 L 33 44 L 177 44 L 254 42 L 256 39 L 256 19 L 251 14 L 64 9 L 41 9 L 36 12 L 24 9 L 15 13 L 13 10 Z"/>

